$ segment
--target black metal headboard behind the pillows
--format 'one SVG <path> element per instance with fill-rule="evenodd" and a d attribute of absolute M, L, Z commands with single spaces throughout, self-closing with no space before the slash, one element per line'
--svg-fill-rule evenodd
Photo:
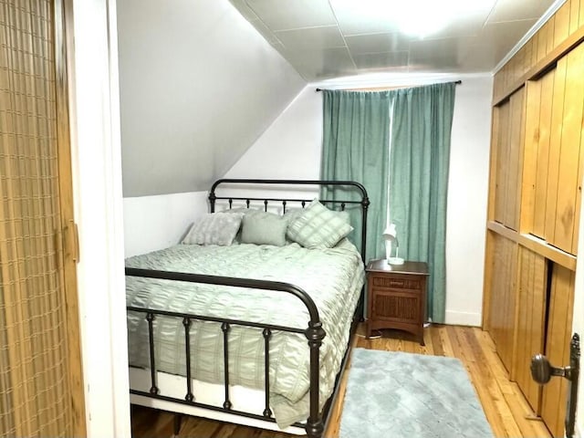
<path fill-rule="evenodd" d="M 254 187 L 254 190 L 267 188 L 270 185 L 286 185 L 288 190 L 293 190 L 296 186 L 307 186 L 307 185 L 316 185 L 318 188 L 328 187 L 328 188 L 340 188 L 344 190 L 352 190 L 353 192 L 357 192 L 360 194 L 360 200 L 355 201 L 347 199 L 318 199 L 320 203 L 327 204 L 327 203 L 335 203 L 340 205 L 340 209 L 344 210 L 347 204 L 360 204 L 361 208 L 361 245 L 360 245 L 360 254 L 361 260 L 365 263 L 365 253 L 367 250 L 367 211 L 369 208 L 369 196 L 367 195 L 367 190 L 361 183 L 357 183 L 354 181 L 328 181 L 328 180 L 257 180 L 257 179 L 238 179 L 238 178 L 225 178 L 221 180 L 217 180 L 211 186 L 211 190 L 209 191 L 209 203 L 211 205 L 211 213 L 215 211 L 215 203 L 217 200 L 225 200 L 230 205 L 233 201 L 245 201 L 247 205 L 251 201 L 260 201 L 263 202 L 265 208 L 267 209 L 268 203 L 281 203 L 283 206 L 283 210 L 286 211 L 287 203 L 301 203 L 303 206 L 305 203 L 309 203 L 312 199 L 298 199 L 298 198 L 291 198 L 291 197 L 248 197 L 248 196 L 217 196 L 215 190 L 221 184 L 242 184 L 246 185 L 249 188 L 250 185 Z M 235 187 L 231 187 L 234 189 Z M 227 189 L 224 189 L 227 190 Z"/>

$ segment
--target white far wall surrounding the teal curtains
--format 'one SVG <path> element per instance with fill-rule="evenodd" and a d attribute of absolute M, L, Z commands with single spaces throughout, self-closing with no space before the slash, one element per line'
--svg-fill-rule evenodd
<path fill-rule="evenodd" d="M 310 84 L 227 172 L 228 177 L 318 178 L 322 95 L 317 87 L 422 85 L 462 79 L 456 87 L 446 230 L 446 322 L 481 325 L 485 266 L 491 75 L 401 76 Z"/>

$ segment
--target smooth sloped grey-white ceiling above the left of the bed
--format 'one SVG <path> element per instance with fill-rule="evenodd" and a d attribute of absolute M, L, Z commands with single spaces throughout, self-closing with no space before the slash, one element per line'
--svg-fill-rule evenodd
<path fill-rule="evenodd" d="M 125 197 L 207 190 L 306 82 L 228 0 L 119 0 Z"/>

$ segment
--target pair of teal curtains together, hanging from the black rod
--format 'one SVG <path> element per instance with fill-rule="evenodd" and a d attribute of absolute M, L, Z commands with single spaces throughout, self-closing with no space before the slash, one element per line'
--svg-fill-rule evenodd
<path fill-rule="evenodd" d="M 439 323 L 454 88 L 323 91 L 321 177 L 356 180 L 369 192 L 368 260 L 385 256 L 381 233 L 394 223 L 400 255 L 428 263 L 427 318 Z"/>

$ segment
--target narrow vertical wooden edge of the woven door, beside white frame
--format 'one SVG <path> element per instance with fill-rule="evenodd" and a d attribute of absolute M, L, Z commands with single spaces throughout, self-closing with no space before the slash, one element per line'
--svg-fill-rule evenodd
<path fill-rule="evenodd" d="M 73 227 L 73 176 L 71 172 L 71 143 L 68 110 L 67 35 L 65 27 L 65 5 L 63 0 L 54 2 L 55 20 L 55 70 L 57 87 L 57 150 L 59 173 L 59 203 L 61 209 L 61 239 L 63 230 Z M 62 245 L 62 240 L 61 240 Z M 78 256 L 71 251 L 62 251 L 63 287 L 67 310 L 65 324 L 68 332 L 69 405 L 73 418 L 75 436 L 87 436 L 81 337 L 79 330 L 79 308 L 77 288 Z"/>

